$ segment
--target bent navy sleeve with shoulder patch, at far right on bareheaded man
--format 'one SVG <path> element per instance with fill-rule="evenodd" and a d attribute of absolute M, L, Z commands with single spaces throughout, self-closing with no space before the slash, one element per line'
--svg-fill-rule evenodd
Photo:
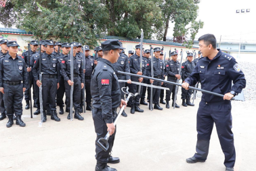
<path fill-rule="evenodd" d="M 230 61 L 228 75 L 233 80 L 233 86 L 230 91 L 234 91 L 236 94 L 241 93 L 246 86 L 246 80 L 244 73 L 234 59 Z"/>

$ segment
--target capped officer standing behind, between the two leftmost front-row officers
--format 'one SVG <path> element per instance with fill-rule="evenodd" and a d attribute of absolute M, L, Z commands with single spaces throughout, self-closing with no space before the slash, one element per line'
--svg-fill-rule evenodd
<path fill-rule="evenodd" d="M 38 48 L 38 41 L 30 41 L 30 58 L 32 55 L 34 55 L 35 53 L 37 53 L 37 48 Z M 30 68 L 30 64 L 28 62 L 28 51 L 25 51 L 24 53 L 22 53 L 22 58 L 24 59 L 24 61 L 26 62 L 26 71 L 28 72 L 28 74 L 30 75 L 30 88 L 33 86 L 33 99 L 34 99 L 34 107 L 37 107 L 37 103 L 35 103 L 35 101 L 37 101 L 37 97 L 35 95 L 35 89 L 34 89 L 34 77 L 33 74 L 31 72 L 31 68 Z M 29 105 L 29 89 L 26 89 L 26 91 L 24 92 L 24 99 L 26 100 L 26 107 L 25 109 L 29 109 L 30 105 Z"/>

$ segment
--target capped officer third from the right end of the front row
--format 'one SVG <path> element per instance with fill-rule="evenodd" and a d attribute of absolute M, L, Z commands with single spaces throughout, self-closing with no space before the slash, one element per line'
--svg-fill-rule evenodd
<path fill-rule="evenodd" d="M 151 67 L 153 67 L 154 78 L 163 79 L 164 67 L 163 67 L 163 61 L 161 59 L 159 59 L 160 53 L 161 53 L 161 48 L 155 47 L 154 48 L 154 57 L 153 57 L 153 66 L 151 66 L 151 60 L 152 60 L 151 59 L 147 64 L 147 74 L 148 74 L 148 76 L 152 77 Z M 153 83 L 156 86 L 161 86 L 163 84 L 163 82 L 158 82 L 158 81 L 154 81 L 154 80 L 150 80 L 150 83 Z M 153 96 L 152 99 L 153 99 L 153 103 L 154 103 L 154 109 L 163 110 L 163 108 L 160 107 L 160 105 L 159 105 L 160 89 L 153 89 L 152 96 Z M 150 97 L 149 97 L 149 99 L 150 99 Z M 151 108 L 150 105 L 149 105 L 149 109 Z"/>

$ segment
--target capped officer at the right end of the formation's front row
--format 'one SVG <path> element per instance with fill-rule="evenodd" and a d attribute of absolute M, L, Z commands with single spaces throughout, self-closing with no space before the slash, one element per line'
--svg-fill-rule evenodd
<path fill-rule="evenodd" d="M 192 71 L 196 67 L 194 62 L 192 62 L 193 53 L 188 53 L 187 58 L 188 58 L 188 60 L 186 62 L 182 63 L 182 82 L 185 82 L 186 78 L 188 78 L 188 76 L 190 76 L 190 74 L 192 73 Z M 192 104 L 190 102 L 191 95 L 192 95 L 192 90 L 191 89 L 186 90 L 186 89 L 182 88 L 182 105 L 184 107 L 187 107 L 188 105 L 194 106 L 194 104 Z"/>

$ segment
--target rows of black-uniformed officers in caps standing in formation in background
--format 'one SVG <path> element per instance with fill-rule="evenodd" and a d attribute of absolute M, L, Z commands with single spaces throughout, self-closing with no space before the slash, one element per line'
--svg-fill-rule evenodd
<path fill-rule="evenodd" d="M 121 43 L 121 42 L 119 42 Z M 89 46 L 85 45 L 85 62 L 83 62 L 83 51 L 81 43 L 59 43 L 51 40 L 45 41 L 30 41 L 29 52 L 25 51 L 22 56 L 18 56 L 18 43 L 16 41 L 7 41 L 2 39 L 0 41 L 0 120 L 8 117 L 7 127 L 11 127 L 16 120 L 16 124 L 20 126 L 26 126 L 22 121 L 22 99 L 24 97 L 26 101 L 25 109 L 30 108 L 30 88 L 33 87 L 33 100 L 34 107 L 37 110 L 35 115 L 40 114 L 39 103 L 39 87 L 42 87 L 43 94 L 43 122 L 46 122 L 47 116 L 51 116 L 51 120 L 57 122 L 60 121 L 56 112 L 56 105 L 60 107 L 59 114 L 64 114 L 64 103 L 66 104 L 66 112 L 68 112 L 67 119 L 70 120 L 70 87 L 74 87 L 73 93 L 73 105 L 74 105 L 74 118 L 78 120 L 84 120 L 80 115 L 83 112 L 83 87 L 85 87 L 86 95 L 86 110 L 91 111 L 91 75 L 95 66 L 102 60 L 103 52 L 102 47 L 96 47 L 94 49 L 95 55 L 89 55 Z M 41 45 L 41 51 L 37 51 Z M 73 68 L 74 68 L 74 81 L 70 80 L 70 47 L 73 45 Z M 122 45 L 121 45 L 122 46 Z M 135 52 L 129 51 L 129 55 L 125 55 L 122 49 L 119 50 L 119 59 L 116 63 L 112 64 L 115 72 L 123 71 L 133 74 L 152 76 L 151 73 L 151 59 L 153 56 L 153 75 L 154 78 L 161 78 L 176 82 L 177 79 L 184 81 L 195 68 L 198 59 L 200 58 L 200 51 L 198 52 L 198 58 L 194 59 L 193 53 L 187 53 L 186 62 L 182 63 L 182 67 L 178 61 L 178 54 L 176 51 L 171 52 L 171 58 L 167 61 L 164 60 L 163 52 L 160 47 L 154 48 L 154 54 L 150 54 L 150 49 L 144 49 L 142 58 L 142 72 L 140 72 L 140 47 L 135 46 Z M 42 80 L 39 80 L 39 56 L 41 53 L 41 73 Z M 30 55 L 28 57 L 28 55 Z M 30 59 L 30 61 L 29 61 Z M 85 63 L 85 64 L 84 64 Z M 182 68 L 179 72 L 179 68 Z M 153 83 L 156 86 L 167 87 L 166 91 L 161 89 L 153 89 L 152 99 L 154 109 L 162 110 L 163 108 L 159 103 L 166 105 L 169 109 L 171 105 L 175 105 L 179 108 L 179 105 L 175 103 L 175 86 L 171 84 L 163 84 L 163 82 L 153 82 L 153 80 L 137 78 L 133 76 L 116 74 L 119 80 L 127 80 L 125 82 L 119 82 L 120 87 L 129 87 L 131 93 L 136 93 L 138 90 L 137 84 L 131 84 L 134 82 L 143 82 L 146 84 Z M 30 84 L 28 83 L 30 82 Z M 147 99 L 146 99 L 147 92 Z M 64 94 L 66 100 L 64 101 Z M 171 96 L 172 94 L 172 96 Z M 187 107 L 193 106 L 190 102 L 192 90 L 186 90 L 182 88 L 182 105 Z M 164 101 L 164 97 L 165 100 Z M 121 99 L 125 99 L 123 91 L 121 91 Z M 142 87 L 140 95 L 135 98 L 131 98 L 128 103 L 128 107 L 131 107 L 131 114 L 135 112 L 144 112 L 140 109 L 140 105 L 148 105 L 150 99 L 150 88 Z M 150 105 L 149 105 L 150 109 Z M 122 116 L 127 117 L 125 111 Z"/>

